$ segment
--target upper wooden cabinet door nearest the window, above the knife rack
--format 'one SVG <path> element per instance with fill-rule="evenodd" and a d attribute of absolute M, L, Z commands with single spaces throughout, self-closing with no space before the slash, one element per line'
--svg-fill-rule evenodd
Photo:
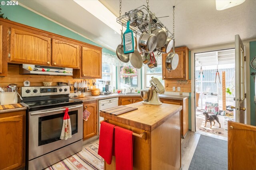
<path fill-rule="evenodd" d="M 101 50 L 82 47 L 82 77 L 101 78 Z"/>

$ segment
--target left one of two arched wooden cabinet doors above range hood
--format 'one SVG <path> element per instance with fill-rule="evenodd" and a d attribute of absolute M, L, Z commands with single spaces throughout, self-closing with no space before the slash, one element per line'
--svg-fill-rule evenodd
<path fill-rule="evenodd" d="M 51 38 L 11 28 L 10 62 L 50 65 Z"/>

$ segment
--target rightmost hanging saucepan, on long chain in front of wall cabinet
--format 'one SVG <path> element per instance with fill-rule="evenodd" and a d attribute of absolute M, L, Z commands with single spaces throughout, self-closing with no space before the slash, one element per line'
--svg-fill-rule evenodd
<path fill-rule="evenodd" d="M 165 66 L 168 72 L 170 72 L 171 70 L 175 70 L 179 63 L 179 56 L 178 54 L 175 53 L 174 47 L 175 47 L 175 41 L 173 40 L 173 46 L 172 46 L 173 52 L 167 55 L 166 61 L 165 61 Z"/>

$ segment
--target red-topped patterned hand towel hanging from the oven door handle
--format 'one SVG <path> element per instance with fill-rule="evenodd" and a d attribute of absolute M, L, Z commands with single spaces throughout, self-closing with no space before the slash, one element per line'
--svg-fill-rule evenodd
<path fill-rule="evenodd" d="M 67 140 L 68 138 L 71 138 L 72 136 L 72 130 L 71 130 L 71 123 L 70 123 L 70 117 L 68 115 L 68 108 L 65 110 L 65 114 L 63 117 L 63 125 L 62 125 L 62 131 L 60 135 L 60 139 Z"/>

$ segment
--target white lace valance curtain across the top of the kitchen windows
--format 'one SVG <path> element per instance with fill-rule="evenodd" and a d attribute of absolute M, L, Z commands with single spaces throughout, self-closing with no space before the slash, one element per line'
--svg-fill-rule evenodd
<path fill-rule="evenodd" d="M 162 54 L 160 55 L 157 55 L 156 53 L 154 54 L 155 54 L 157 63 L 162 64 Z M 128 63 L 124 63 L 120 61 L 116 55 L 112 55 L 109 53 L 102 53 L 102 63 L 111 64 L 114 66 L 131 66 L 132 65 L 130 61 Z M 146 64 L 143 64 L 143 66 L 146 66 Z"/>

